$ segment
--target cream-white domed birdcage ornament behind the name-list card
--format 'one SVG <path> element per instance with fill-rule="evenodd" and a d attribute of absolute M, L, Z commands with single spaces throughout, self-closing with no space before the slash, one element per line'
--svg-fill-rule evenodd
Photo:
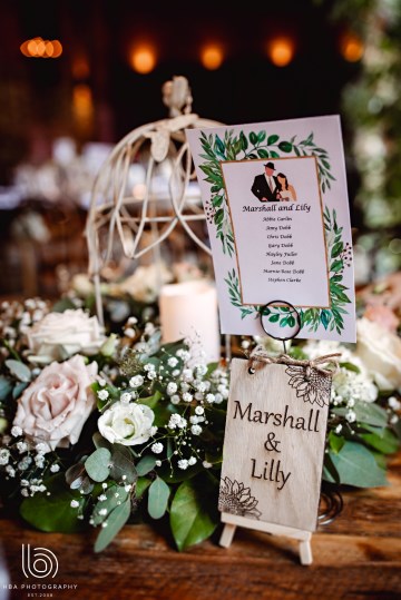
<path fill-rule="evenodd" d="M 114 148 L 95 180 L 86 236 L 89 275 L 94 279 L 96 308 L 101 323 L 100 274 L 111 260 L 116 236 L 124 255 L 137 259 L 149 250 L 156 250 L 180 224 L 195 244 L 211 254 L 189 226 L 190 222 L 203 222 L 206 216 L 199 203 L 188 201 L 188 185 L 195 179 L 195 173 L 185 129 L 222 124 L 190 112 L 193 99 L 185 77 L 174 77 L 162 89 L 169 118 L 130 131 Z M 139 189 L 140 194 L 135 194 L 129 185 L 130 169 L 145 148 L 149 151 L 145 183 Z M 153 194 L 151 184 L 156 167 L 166 161 L 170 168 L 168 194 L 163 214 L 158 214 L 159 198 Z M 143 236 L 148 227 L 151 228 L 151 240 L 144 246 Z M 106 232 L 104 247 L 100 232 Z"/>

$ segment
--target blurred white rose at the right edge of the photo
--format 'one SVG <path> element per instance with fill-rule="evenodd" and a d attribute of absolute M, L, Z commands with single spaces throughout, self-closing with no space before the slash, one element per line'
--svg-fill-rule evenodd
<path fill-rule="evenodd" d="M 401 388 L 401 340 L 368 318 L 356 323 L 356 355 L 380 390 Z"/>

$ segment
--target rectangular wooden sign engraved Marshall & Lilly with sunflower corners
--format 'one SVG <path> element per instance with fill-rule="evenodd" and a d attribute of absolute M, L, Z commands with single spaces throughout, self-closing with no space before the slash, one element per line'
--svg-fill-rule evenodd
<path fill-rule="evenodd" d="M 330 390 L 331 375 L 319 368 L 268 364 L 251 375 L 247 361 L 233 360 L 218 501 L 224 522 L 315 531 Z"/>

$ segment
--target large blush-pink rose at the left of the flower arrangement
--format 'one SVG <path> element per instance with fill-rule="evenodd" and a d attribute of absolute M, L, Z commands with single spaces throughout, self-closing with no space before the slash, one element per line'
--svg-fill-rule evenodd
<path fill-rule="evenodd" d="M 97 363 L 86 365 L 79 354 L 46 366 L 18 400 L 13 426 L 33 442 L 45 442 L 45 450 L 77 443 L 95 409 L 90 384 L 96 375 Z"/>

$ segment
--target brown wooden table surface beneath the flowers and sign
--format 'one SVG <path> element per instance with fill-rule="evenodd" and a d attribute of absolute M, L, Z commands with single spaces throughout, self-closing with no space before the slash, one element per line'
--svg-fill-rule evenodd
<path fill-rule="evenodd" d="M 71 600 L 401 599 L 400 456 L 392 460 L 388 488 L 343 494 L 343 513 L 312 538 L 311 567 L 299 563 L 294 541 L 244 529 L 228 550 L 217 545 L 216 534 L 178 553 L 156 530 L 128 525 L 106 551 L 94 554 L 92 534 L 41 533 L 2 519 L 3 550 L 19 588 L 10 599 L 28 598 L 29 591 L 20 589 L 27 583 L 76 584 L 75 591 L 29 592 L 36 594 L 30 598 L 52 593 Z M 56 553 L 55 579 L 25 578 L 22 543 Z M 0 584 L 1 600 L 2 593 Z"/>

